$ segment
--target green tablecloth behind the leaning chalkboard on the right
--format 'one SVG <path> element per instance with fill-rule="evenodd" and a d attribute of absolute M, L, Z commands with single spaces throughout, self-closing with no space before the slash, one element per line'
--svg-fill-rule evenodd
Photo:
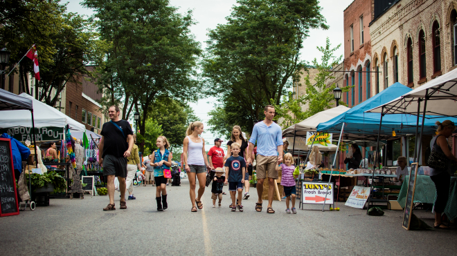
<path fill-rule="evenodd" d="M 400 194 L 398 195 L 398 204 L 404 208 L 406 204 L 406 193 L 408 193 L 409 175 L 404 177 Z M 415 181 L 414 203 L 433 204 L 436 197 L 436 188 L 430 176 L 418 175 Z"/>

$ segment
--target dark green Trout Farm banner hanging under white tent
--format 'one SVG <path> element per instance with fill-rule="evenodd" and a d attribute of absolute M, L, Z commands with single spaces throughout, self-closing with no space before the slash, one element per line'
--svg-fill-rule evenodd
<path fill-rule="evenodd" d="M 18 141 L 33 141 L 33 130 L 28 127 L 2 128 L 0 134 L 8 133 Z M 60 127 L 35 128 L 36 141 L 57 141 L 64 139 L 64 129 Z"/>

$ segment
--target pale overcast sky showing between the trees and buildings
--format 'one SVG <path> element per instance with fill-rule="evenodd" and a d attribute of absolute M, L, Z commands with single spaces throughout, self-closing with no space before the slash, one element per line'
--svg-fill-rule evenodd
<path fill-rule="evenodd" d="M 65 1 L 62 1 L 65 2 Z M 91 9 L 80 6 L 81 0 L 71 0 L 68 3 L 69 12 L 78 12 L 90 16 L 93 14 Z M 314 58 L 321 58 L 321 53 L 316 49 L 317 46 L 325 46 L 325 40 L 330 38 L 332 46 L 337 46 L 341 43 L 341 47 L 336 52 L 336 56 L 343 55 L 343 10 L 346 9 L 352 0 L 322 0 L 320 6 L 322 14 L 327 20 L 328 30 L 311 30 L 310 36 L 303 41 L 303 49 L 301 51 L 301 60 L 311 62 Z M 231 8 L 236 4 L 236 0 L 170 0 L 170 5 L 179 7 L 179 12 L 185 13 L 192 10 L 192 17 L 197 22 L 190 28 L 195 39 L 201 43 L 201 47 L 206 48 L 205 41 L 208 29 L 215 29 L 217 24 L 226 23 L 225 17 L 231 14 Z M 208 112 L 217 105 L 217 99 L 210 97 L 199 99 L 196 103 L 190 104 L 195 111 L 195 114 L 204 124 L 207 124 L 209 116 Z M 207 126 L 206 126 L 207 127 Z M 215 135 L 211 134 L 207 129 L 202 134 L 204 139 L 208 141 L 207 150 L 213 145 Z M 227 138 L 224 138 L 227 139 Z"/>

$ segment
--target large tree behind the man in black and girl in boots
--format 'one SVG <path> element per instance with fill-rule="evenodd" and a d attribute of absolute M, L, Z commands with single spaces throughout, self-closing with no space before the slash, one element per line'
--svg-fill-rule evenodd
<path fill-rule="evenodd" d="M 109 95 L 105 107 L 122 101 L 123 119 L 140 112 L 143 134 L 157 99 L 197 100 L 201 85 L 195 66 L 201 50 L 190 35 L 190 11 L 179 14 L 168 0 L 82 3 L 95 9 L 100 35 L 110 43 L 98 68 L 98 84 Z"/>

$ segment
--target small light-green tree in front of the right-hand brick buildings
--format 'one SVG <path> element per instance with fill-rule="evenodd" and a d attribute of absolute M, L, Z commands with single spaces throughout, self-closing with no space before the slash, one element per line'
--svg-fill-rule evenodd
<path fill-rule="evenodd" d="M 330 79 L 335 77 L 332 75 L 332 68 L 337 66 L 341 62 L 342 55 L 335 57 L 334 52 L 339 49 L 341 44 L 335 48 L 331 48 L 330 39 L 327 38 L 325 47 L 318 46 L 317 49 L 322 53 L 321 63 L 316 58 L 312 61 L 314 68 L 318 70 L 315 79 L 315 83 L 311 84 L 310 75 L 305 77 L 305 95 L 298 99 L 287 99 L 283 97 L 282 104 L 274 104 L 276 107 L 276 119 L 283 119 L 282 124 L 296 124 L 312 115 L 315 115 L 323 110 L 333 108 L 335 101 L 333 95 L 333 89 L 337 86 L 335 83 L 326 83 Z M 299 84 L 298 86 L 301 86 Z M 346 86 L 341 88 L 343 92 L 348 92 L 353 86 Z M 340 103 L 346 106 L 344 102 Z M 302 111 L 302 107 L 306 106 L 306 110 Z"/>

